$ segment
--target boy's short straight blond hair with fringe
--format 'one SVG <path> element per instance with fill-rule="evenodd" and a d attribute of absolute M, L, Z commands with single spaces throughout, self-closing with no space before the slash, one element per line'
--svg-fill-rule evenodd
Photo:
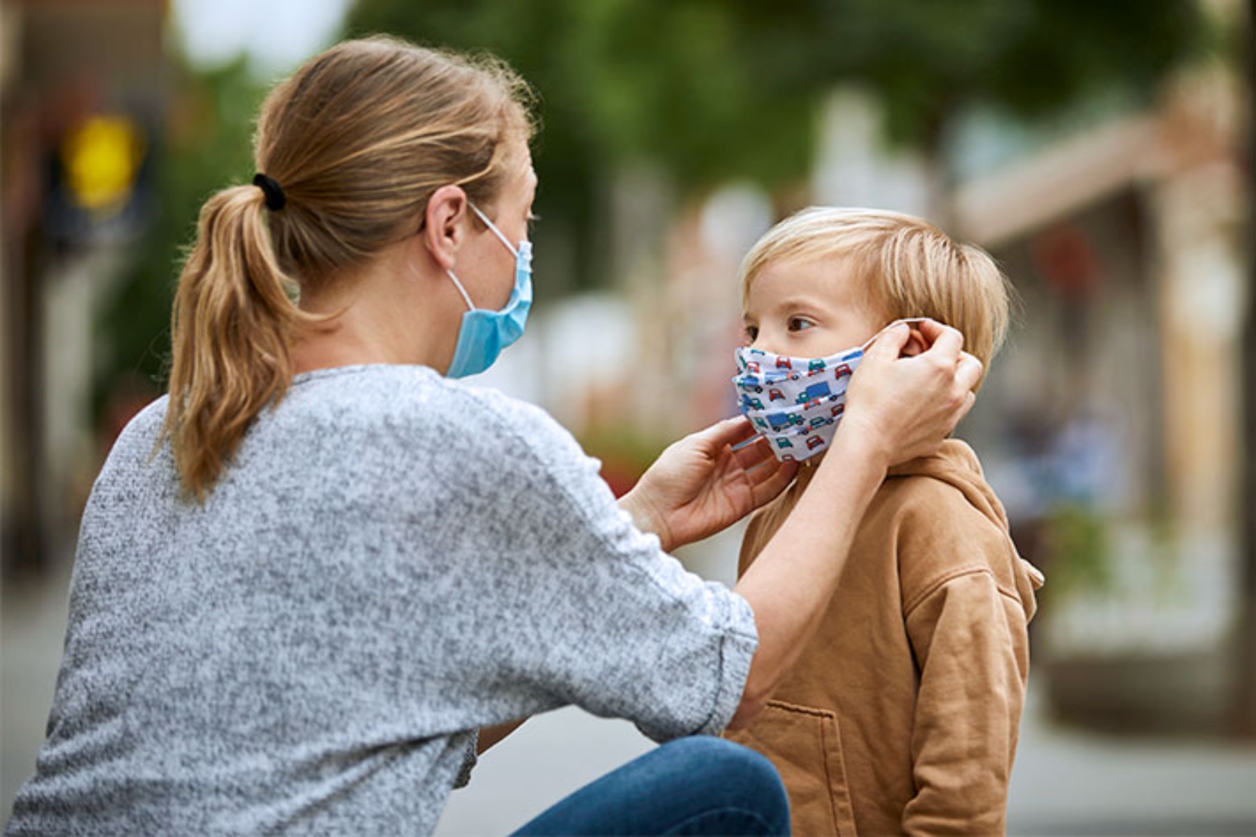
<path fill-rule="evenodd" d="M 1007 280 L 986 251 L 909 215 L 810 207 L 785 218 L 741 262 L 742 304 L 769 264 L 833 256 L 847 260 L 882 325 L 911 316 L 945 323 L 988 369 L 1007 335 Z"/>

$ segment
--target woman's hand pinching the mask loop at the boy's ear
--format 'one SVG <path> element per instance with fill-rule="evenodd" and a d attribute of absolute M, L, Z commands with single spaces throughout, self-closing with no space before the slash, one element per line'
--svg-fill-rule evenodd
<path fill-rule="evenodd" d="M 923 320 L 928 349 L 902 358 L 912 339 L 907 325 L 887 329 L 868 349 L 847 394 L 838 433 L 855 433 L 888 468 L 934 453 L 972 408 L 981 361 L 962 351 L 963 335 Z"/>

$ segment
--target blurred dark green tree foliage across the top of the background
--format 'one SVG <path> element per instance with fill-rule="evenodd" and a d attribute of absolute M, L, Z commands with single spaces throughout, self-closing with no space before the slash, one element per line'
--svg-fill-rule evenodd
<path fill-rule="evenodd" d="M 487 49 L 535 84 L 544 212 L 579 220 L 579 245 L 625 162 L 662 167 L 682 198 L 800 181 L 836 83 L 867 87 L 888 137 L 937 162 L 973 104 L 1032 118 L 1100 90 L 1148 98 L 1202 18 L 1196 0 L 358 0 L 348 28 Z M 580 275 L 599 274 L 590 256 Z"/>

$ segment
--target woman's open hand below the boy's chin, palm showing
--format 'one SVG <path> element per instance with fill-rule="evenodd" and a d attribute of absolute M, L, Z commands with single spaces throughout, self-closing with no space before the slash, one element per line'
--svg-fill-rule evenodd
<path fill-rule="evenodd" d="M 796 472 L 798 464 L 777 462 L 767 440 L 737 417 L 663 450 L 619 507 L 671 551 L 741 520 L 781 493 Z"/>

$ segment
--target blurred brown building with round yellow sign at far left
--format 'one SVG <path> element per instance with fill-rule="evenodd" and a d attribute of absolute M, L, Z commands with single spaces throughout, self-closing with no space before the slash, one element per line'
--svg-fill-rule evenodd
<path fill-rule="evenodd" d="M 144 223 L 166 0 L 0 1 L 0 547 L 73 537 L 92 433 L 93 311 Z"/>

